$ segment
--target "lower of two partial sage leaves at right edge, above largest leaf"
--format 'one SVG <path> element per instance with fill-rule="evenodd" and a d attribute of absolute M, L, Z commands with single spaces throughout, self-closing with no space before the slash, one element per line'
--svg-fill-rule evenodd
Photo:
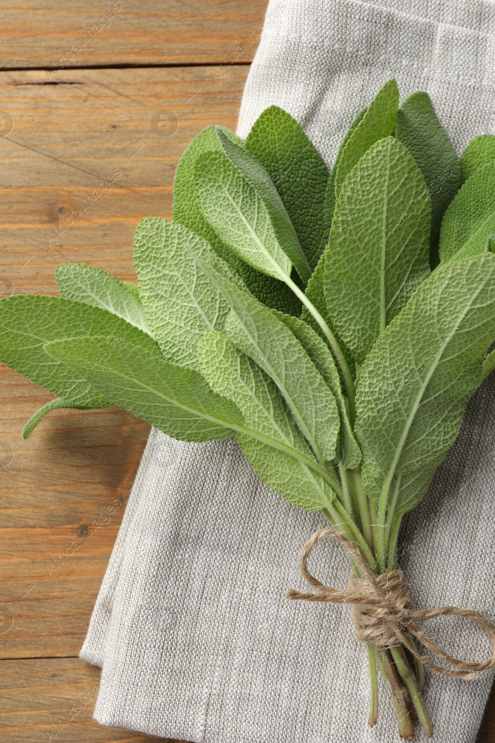
<path fill-rule="evenodd" d="M 495 232 L 495 162 L 477 169 L 461 187 L 442 221 L 440 261 L 483 253 Z"/>

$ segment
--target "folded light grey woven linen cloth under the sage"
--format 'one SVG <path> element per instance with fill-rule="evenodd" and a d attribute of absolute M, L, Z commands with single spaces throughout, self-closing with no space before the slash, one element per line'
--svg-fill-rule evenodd
<path fill-rule="evenodd" d="M 272 0 L 238 133 L 275 103 L 331 166 L 356 112 L 396 77 L 402 98 L 429 92 L 460 153 L 495 132 L 494 39 L 494 2 Z M 492 374 L 404 519 L 400 563 L 419 609 L 453 604 L 494 619 L 494 447 Z M 153 430 L 81 652 L 102 666 L 96 719 L 190 742 L 399 740 L 381 678 L 378 725 L 367 725 L 367 654 L 347 607 L 284 598 L 304 590 L 298 556 L 321 525 L 261 483 L 234 440 L 186 444 Z M 347 557 L 330 540 L 310 568 L 347 584 Z M 448 652 L 489 655 L 467 620 L 427 628 Z M 427 673 L 434 741 L 474 743 L 491 681 Z"/>

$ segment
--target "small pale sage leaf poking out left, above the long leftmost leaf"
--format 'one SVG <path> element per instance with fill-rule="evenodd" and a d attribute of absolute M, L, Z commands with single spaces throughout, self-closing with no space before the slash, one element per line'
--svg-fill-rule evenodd
<path fill-rule="evenodd" d="M 101 307 L 151 335 L 139 300 L 111 273 L 82 263 L 62 263 L 56 267 L 55 276 L 66 299 Z"/>

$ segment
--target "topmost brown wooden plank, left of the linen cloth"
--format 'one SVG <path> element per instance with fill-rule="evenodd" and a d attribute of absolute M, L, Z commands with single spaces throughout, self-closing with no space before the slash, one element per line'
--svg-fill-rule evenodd
<path fill-rule="evenodd" d="M 91 7 L 83 0 L 10 0 L 2 3 L 0 68 L 250 62 L 267 4 L 108 0 Z"/>

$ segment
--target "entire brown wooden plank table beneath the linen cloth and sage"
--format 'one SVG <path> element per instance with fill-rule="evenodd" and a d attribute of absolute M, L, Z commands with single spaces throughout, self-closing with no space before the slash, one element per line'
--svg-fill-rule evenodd
<path fill-rule="evenodd" d="M 0 291 L 56 294 L 65 261 L 135 279 L 134 228 L 171 216 L 183 149 L 209 124 L 235 129 L 266 0 L 3 5 Z M 170 137 L 152 126 L 163 111 Z M 0 384 L 0 740 L 151 741 L 96 724 L 99 669 L 78 658 L 149 428 L 118 408 L 62 410 L 23 441 L 51 395 L 4 366 Z M 492 695 L 479 741 L 495 743 L 494 722 Z"/>

